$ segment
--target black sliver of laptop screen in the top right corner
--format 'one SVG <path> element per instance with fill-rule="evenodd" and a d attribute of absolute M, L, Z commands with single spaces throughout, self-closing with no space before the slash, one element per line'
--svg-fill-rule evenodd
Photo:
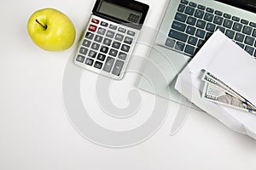
<path fill-rule="evenodd" d="M 256 13 L 256 0 L 217 0 Z"/>

